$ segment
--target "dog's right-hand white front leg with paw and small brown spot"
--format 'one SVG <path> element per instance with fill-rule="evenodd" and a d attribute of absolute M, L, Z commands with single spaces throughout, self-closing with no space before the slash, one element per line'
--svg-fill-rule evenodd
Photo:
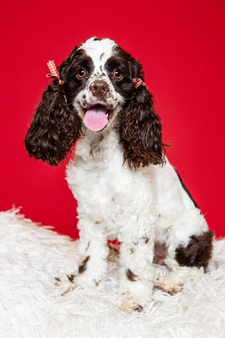
<path fill-rule="evenodd" d="M 135 237 L 133 237 L 135 238 Z M 123 311 L 141 311 L 153 289 L 154 232 L 121 244 L 121 282 L 117 306 Z"/>

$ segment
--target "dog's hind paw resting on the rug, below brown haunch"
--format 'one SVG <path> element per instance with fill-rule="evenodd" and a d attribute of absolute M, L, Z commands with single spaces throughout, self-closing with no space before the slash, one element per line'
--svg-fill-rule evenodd
<path fill-rule="evenodd" d="M 154 287 L 171 295 L 183 290 L 183 283 L 179 281 L 173 274 L 166 274 L 154 282 Z"/>

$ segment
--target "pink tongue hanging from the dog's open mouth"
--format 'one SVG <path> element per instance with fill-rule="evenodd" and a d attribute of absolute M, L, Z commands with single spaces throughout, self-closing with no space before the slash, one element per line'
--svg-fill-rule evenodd
<path fill-rule="evenodd" d="M 101 105 L 96 105 L 90 108 L 83 118 L 85 126 L 93 131 L 99 131 L 106 126 L 108 119 L 106 117 L 107 108 Z"/>

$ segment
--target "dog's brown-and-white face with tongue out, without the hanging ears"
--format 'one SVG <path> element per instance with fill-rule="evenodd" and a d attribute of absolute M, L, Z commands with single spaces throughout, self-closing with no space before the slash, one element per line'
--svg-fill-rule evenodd
<path fill-rule="evenodd" d="M 86 127 L 100 131 L 115 124 L 120 107 L 132 95 L 129 85 L 134 89 L 131 73 L 123 51 L 112 40 L 91 38 L 76 49 L 65 75 L 65 91 Z"/>

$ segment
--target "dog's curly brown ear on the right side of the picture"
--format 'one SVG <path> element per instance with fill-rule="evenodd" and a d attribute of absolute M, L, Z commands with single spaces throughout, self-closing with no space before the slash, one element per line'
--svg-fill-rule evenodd
<path fill-rule="evenodd" d="M 139 73 L 140 74 L 140 73 Z M 139 77 L 143 75 L 140 74 Z M 160 117 L 155 113 L 152 94 L 144 86 L 134 89 L 133 98 L 119 114 L 119 143 L 124 148 L 124 162 L 129 169 L 165 163 Z"/>

